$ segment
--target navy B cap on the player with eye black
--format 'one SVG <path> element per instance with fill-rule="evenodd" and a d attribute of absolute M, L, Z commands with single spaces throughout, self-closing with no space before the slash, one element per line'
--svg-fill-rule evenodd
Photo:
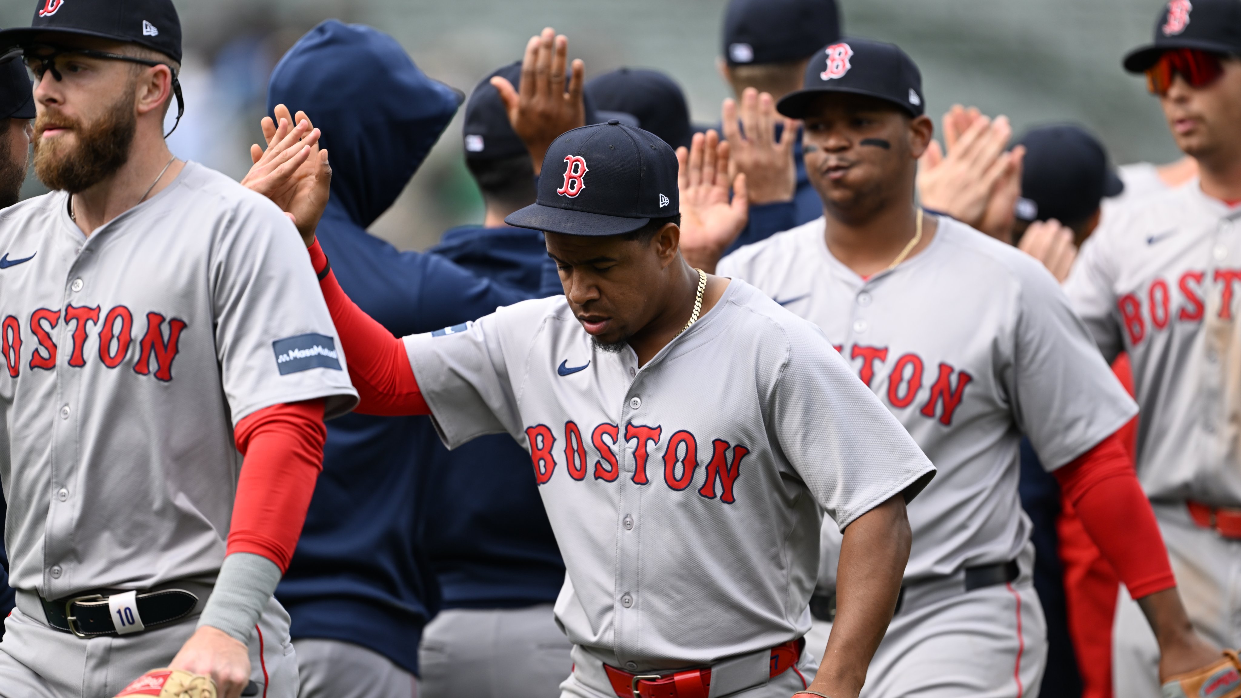
<path fill-rule="evenodd" d="M 815 52 L 805 67 L 802 89 L 786 94 L 776 104 L 776 111 L 800 119 L 807 116 L 814 98 L 828 92 L 876 97 L 913 117 L 921 117 L 926 111 L 922 72 L 913 58 L 894 43 L 869 39 L 841 39 Z"/>

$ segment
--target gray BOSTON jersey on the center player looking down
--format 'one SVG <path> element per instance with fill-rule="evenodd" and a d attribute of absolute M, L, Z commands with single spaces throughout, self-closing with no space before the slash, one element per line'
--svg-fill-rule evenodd
<path fill-rule="evenodd" d="M 845 527 L 933 473 L 818 328 L 741 282 L 643 366 L 563 296 L 405 342 L 448 447 L 530 451 L 567 568 L 556 616 L 630 671 L 799 637 L 822 512 Z"/>

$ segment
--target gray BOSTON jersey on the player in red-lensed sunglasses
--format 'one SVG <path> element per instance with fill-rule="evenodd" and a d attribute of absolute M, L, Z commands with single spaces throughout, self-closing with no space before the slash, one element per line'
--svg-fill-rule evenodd
<path fill-rule="evenodd" d="M 1111 211 L 1065 284 L 1107 359 L 1128 351 L 1152 499 L 1241 507 L 1241 207 L 1181 188 Z"/>

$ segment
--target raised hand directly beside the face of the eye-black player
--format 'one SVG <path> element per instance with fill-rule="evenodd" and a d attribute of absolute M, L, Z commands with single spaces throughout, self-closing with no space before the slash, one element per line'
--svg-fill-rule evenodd
<path fill-rule="evenodd" d="M 724 101 L 724 137 L 728 139 L 732 159 L 730 174 L 742 173 L 750 186 L 750 202 L 755 205 L 792 201 L 797 193 L 797 164 L 793 145 L 798 122 L 776 113 L 776 101 L 753 87 L 741 93 L 741 127 L 737 125 L 737 103 Z M 783 125 L 776 138 L 776 125 Z M 745 132 L 745 133 L 742 133 Z"/>

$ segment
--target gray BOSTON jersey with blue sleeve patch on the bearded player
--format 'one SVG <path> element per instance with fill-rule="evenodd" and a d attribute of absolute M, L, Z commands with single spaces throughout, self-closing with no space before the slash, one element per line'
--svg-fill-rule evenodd
<path fill-rule="evenodd" d="M 356 394 L 274 204 L 189 163 L 89 238 L 65 193 L 0 212 L 0 478 L 16 589 L 213 575 L 256 410 Z"/>

